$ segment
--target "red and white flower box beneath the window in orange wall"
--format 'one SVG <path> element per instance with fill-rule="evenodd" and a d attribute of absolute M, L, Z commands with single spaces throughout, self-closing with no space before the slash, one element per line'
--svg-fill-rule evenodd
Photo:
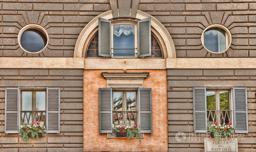
<path fill-rule="evenodd" d="M 114 132 L 116 132 L 116 137 L 127 137 L 127 139 L 132 139 L 136 135 L 139 138 L 141 144 L 141 137 L 140 137 L 140 129 L 137 127 L 136 124 L 132 125 L 117 125 L 114 126 Z"/>

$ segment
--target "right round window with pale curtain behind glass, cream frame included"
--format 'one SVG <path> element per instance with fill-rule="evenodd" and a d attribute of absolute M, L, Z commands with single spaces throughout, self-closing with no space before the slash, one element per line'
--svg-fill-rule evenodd
<path fill-rule="evenodd" d="M 223 53 L 231 44 L 231 34 L 222 25 L 211 25 L 202 34 L 204 48 L 212 53 Z"/>

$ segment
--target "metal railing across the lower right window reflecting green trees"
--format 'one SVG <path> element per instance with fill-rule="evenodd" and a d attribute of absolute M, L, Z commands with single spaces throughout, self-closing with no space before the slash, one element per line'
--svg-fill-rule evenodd
<path fill-rule="evenodd" d="M 232 110 L 207 110 L 207 126 L 216 121 L 221 125 L 231 122 L 232 112 Z"/>

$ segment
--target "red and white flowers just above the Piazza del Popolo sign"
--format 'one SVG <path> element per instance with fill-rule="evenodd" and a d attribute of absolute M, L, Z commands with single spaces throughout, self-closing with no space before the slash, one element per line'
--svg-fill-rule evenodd
<path fill-rule="evenodd" d="M 211 131 L 211 137 L 221 140 L 221 137 L 224 136 L 226 139 L 227 137 L 231 137 L 231 132 L 233 132 L 234 127 L 232 123 L 226 124 L 219 124 L 218 121 L 214 122 L 214 124 L 209 126 Z"/>

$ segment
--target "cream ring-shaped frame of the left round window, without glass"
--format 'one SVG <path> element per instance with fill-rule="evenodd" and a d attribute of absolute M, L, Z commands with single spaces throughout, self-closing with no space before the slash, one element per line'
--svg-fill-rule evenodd
<path fill-rule="evenodd" d="M 44 47 L 43 49 L 41 49 L 40 51 L 38 51 L 38 52 L 29 52 L 29 51 L 27 51 L 26 49 L 24 49 L 24 48 L 22 47 L 21 43 L 20 43 L 22 34 L 23 34 L 24 32 L 26 32 L 27 30 L 30 30 L 30 29 L 35 29 L 35 30 L 40 31 L 40 32 L 46 37 L 46 39 L 47 39 L 46 44 L 45 44 L 45 47 Z M 19 46 L 20 46 L 20 48 L 23 49 L 23 51 L 25 51 L 25 52 L 27 52 L 27 53 L 33 53 L 33 54 L 34 54 L 34 53 L 40 53 L 40 52 L 42 52 L 42 51 L 46 48 L 46 46 L 48 45 L 48 41 L 49 41 L 49 37 L 48 37 L 47 31 L 46 31 L 43 27 L 41 27 L 40 25 L 37 25 L 37 24 L 29 24 L 29 25 L 26 25 L 25 27 L 23 27 L 22 29 L 20 29 L 19 34 L 18 34 L 18 43 L 19 43 Z"/>

